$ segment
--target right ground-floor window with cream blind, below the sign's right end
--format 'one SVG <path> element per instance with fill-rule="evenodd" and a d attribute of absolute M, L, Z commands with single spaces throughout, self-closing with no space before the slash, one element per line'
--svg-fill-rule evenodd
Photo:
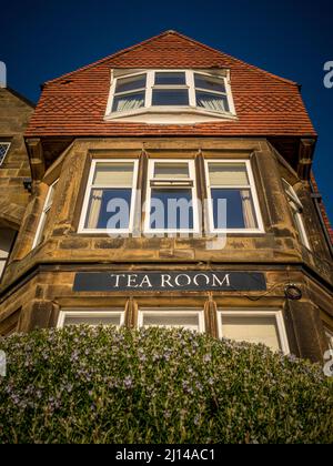
<path fill-rule="evenodd" d="M 220 337 L 290 352 L 281 311 L 219 311 L 218 315 Z"/>

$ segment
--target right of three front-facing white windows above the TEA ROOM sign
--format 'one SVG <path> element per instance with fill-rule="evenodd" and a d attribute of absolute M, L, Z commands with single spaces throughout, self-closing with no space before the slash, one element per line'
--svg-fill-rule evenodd
<path fill-rule="evenodd" d="M 210 232 L 263 232 L 250 161 L 205 161 Z"/>

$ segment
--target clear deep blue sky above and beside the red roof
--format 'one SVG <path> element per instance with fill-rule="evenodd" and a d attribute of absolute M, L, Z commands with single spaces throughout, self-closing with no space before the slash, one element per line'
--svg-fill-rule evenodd
<path fill-rule="evenodd" d="M 168 29 L 301 83 L 333 221 L 333 88 L 323 84 L 333 61 L 332 0 L 0 0 L 0 12 L 8 83 L 34 102 L 42 82 Z"/>

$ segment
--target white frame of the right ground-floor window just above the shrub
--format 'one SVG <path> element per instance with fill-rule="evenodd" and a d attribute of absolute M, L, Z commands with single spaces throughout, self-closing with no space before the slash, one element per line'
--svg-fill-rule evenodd
<path fill-rule="evenodd" d="M 219 328 L 219 337 L 223 337 L 223 315 L 231 316 L 231 317 L 275 317 L 279 338 L 281 344 L 281 351 L 284 354 L 290 354 L 290 346 L 286 336 L 284 318 L 281 310 L 266 310 L 266 308 L 258 308 L 258 310 L 234 310 L 234 311 L 225 311 L 225 310 L 218 310 L 218 328 Z"/>

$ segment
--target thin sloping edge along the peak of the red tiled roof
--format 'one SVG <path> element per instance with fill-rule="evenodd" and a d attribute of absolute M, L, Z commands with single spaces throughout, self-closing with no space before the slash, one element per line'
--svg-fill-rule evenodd
<path fill-rule="evenodd" d="M 114 58 L 117 58 L 117 57 L 119 57 L 121 54 L 129 53 L 129 52 L 138 49 L 139 47 L 142 47 L 142 45 L 144 45 L 144 44 L 147 44 L 149 42 L 152 42 L 152 41 L 154 41 L 157 39 L 160 39 L 160 38 L 162 38 L 164 36 L 169 36 L 169 34 L 178 36 L 178 37 L 180 37 L 182 39 L 185 39 L 185 40 L 188 40 L 188 41 L 190 41 L 192 43 L 195 43 L 196 45 L 199 45 L 199 47 L 201 47 L 203 49 L 213 51 L 213 52 L 219 53 L 221 55 L 223 54 L 223 55 L 228 57 L 229 59 L 231 59 L 233 61 L 236 61 L 236 62 L 239 62 L 239 63 L 248 67 L 249 69 L 252 69 L 252 70 L 255 70 L 255 71 L 260 71 L 260 72 L 262 72 L 262 73 L 264 73 L 266 75 L 270 75 L 271 78 L 274 78 L 274 79 L 278 79 L 278 80 L 283 81 L 285 83 L 289 83 L 289 84 L 293 84 L 293 85 L 297 85 L 299 87 L 299 84 L 295 81 L 289 80 L 286 78 L 279 77 L 278 74 L 271 73 L 271 72 L 269 72 L 266 70 L 263 70 L 262 68 L 259 68 L 259 67 L 256 67 L 254 64 L 248 63 L 248 62 L 245 62 L 245 61 L 243 61 L 241 59 L 238 59 L 238 58 L 235 58 L 233 55 L 230 55 L 229 53 L 225 53 L 225 52 L 222 52 L 222 51 L 220 51 L 218 49 L 214 49 L 213 47 L 206 45 L 205 43 L 199 42 L 198 40 L 192 39 L 192 38 L 185 36 L 185 34 L 182 34 L 181 32 L 174 31 L 172 29 L 169 29 L 169 30 L 167 30 L 164 32 L 161 32 L 160 34 L 157 34 L 157 36 L 153 36 L 153 37 L 151 37 L 149 39 L 145 39 L 145 40 L 143 40 L 143 41 L 141 41 L 141 42 L 139 42 L 139 43 L 137 43 L 134 45 L 131 45 L 131 47 L 128 47 L 125 49 L 122 49 L 122 50 L 120 50 L 120 51 L 118 51 L 115 53 L 112 53 L 112 54 L 110 54 L 108 57 L 104 57 L 103 59 L 100 59 L 100 60 L 98 60 L 98 61 L 95 61 L 93 63 L 87 64 L 87 65 L 81 67 L 81 68 L 79 68 L 79 69 L 77 69 L 74 71 L 71 71 L 69 73 L 62 74 L 62 75 L 60 75 L 58 78 L 54 78 L 52 80 L 46 81 L 46 83 L 43 85 L 48 85 L 48 84 L 51 84 L 51 83 L 57 82 L 59 80 L 63 80 L 63 79 L 70 78 L 70 77 L 72 77 L 73 74 L 75 74 L 78 72 L 85 71 L 85 70 L 88 70 L 88 69 L 90 69 L 92 67 L 95 67 L 97 64 L 101 64 L 101 63 L 103 63 L 103 62 L 105 62 L 105 61 L 108 61 L 110 59 L 114 59 Z"/>

